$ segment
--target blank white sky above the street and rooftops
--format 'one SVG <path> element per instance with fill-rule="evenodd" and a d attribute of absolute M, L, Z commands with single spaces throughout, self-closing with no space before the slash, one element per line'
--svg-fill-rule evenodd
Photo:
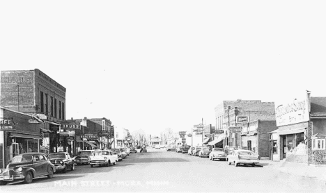
<path fill-rule="evenodd" d="M 158 134 L 223 100 L 326 97 L 326 1 L 1 1 L 0 69 L 38 68 L 66 118 Z"/>

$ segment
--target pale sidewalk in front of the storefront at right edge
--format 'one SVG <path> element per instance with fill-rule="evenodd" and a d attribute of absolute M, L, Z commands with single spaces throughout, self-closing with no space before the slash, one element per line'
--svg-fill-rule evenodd
<path fill-rule="evenodd" d="M 326 183 L 326 165 L 307 165 L 286 161 L 274 162 L 271 160 L 261 160 L 260 164 L 263 166 L 268 165 L 274 167 L 286 174 L 316 178 L 316 180 Z"/>

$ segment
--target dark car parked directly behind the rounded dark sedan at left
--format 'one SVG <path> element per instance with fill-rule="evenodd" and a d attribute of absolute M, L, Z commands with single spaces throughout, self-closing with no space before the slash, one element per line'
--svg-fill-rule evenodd
<path fill-rule="evenodd" d="M 67 152 L 49 153 L 50 162 L 56 167 L 56 171 L 67 172 L 67 169 L 75 170 L 75 160 L 70 158 Z"/>

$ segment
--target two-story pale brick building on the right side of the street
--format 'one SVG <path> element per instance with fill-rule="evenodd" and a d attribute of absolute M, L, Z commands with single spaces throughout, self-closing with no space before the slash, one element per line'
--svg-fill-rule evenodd
<path fill-rule="evenodd" d="M 247 117 L 248 121 L 275 120 L 274 102 L 262 102 L 258 100 L 242 101 L 222 101 L 215 107 L 215 118 L 217 130 L 224 133 L 215 134 L 214 142 L 222 143 L 222 146 L 241 146 L 241 131 L 231 133 L 229 128 L 242 126 L 236 119 L 238 116 Z M 219 141 L 219 142 L 218 142 Z"/>

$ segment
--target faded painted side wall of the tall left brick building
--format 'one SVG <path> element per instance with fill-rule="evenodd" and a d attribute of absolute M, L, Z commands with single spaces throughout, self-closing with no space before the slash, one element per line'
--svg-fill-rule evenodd
<path fill-rule="evenodd" d="M 1 72 L 1 106 L 34 106 L 33 72 Z"/>

